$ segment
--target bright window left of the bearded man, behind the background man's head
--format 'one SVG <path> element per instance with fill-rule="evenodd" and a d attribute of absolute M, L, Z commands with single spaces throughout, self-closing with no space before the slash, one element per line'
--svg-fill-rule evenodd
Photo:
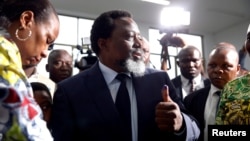
<path fill-rule="evenodd" d="M 89 47 L 90 29 L 93 24 L 93 20 L 83 19 L 72 16 L 59 15 L 60 31 L 58 38 L 55 41 L 53 49 L 65 49 L 72 56 L 73 60 L 79 60 L 82 56 L 87 55 L 86 51 Z M 83 47 L 83 44 L 86 46 Z M 82 52 L 79 48 L 82 49 Z M 50 51 L 49 51 L 50 53 Z M 48 58 L 42 59 L 38 64 L 38 72 L 48 77 L 48 72 L 45 69 Z M 73 74 L 78 73 L 79 70 L 74 67 Z"/>

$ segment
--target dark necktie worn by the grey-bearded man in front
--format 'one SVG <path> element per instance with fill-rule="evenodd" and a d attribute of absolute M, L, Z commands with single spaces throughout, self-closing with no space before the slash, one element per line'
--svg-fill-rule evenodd
<path fill-rule="evenodd" d="M 127 140 L 132 140 L 130 99 L 126 86 L 126 78 L 128 78 L 126 74 L 118 74 L 116 76 L 116 79 L 121 81 L 121 84 L 117 92 L 115 105 L 123 122 L 126 138 Z"/>

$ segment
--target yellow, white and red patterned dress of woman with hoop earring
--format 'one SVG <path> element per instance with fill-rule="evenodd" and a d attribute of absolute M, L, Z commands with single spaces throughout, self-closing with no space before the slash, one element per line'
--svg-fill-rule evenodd
<path fill-rule="evenodd" d="M 17 46 L 0 36 L 0 141 L 52 141 Z"/>

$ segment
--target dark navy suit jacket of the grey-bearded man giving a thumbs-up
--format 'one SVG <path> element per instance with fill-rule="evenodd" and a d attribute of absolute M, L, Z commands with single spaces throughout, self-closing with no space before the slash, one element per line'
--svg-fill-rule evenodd
<path fill-rule="evenodd" d="M 163 101 L 164 84 L 169 86 L 171 98 L 185 111 L 166 72 L 147 69 L 143 77 L 132 74 L 132 81 L 137 98 L 138 141 L 198 138 L 200 131 L 195 120 L 184 113 L 186 130 L 179 136 L 162 132 L 156 125 L 155 107 Z M 54 141 L 123 141 L 126 136 L 98 63 L 58 83 L 52 109 Z"/>

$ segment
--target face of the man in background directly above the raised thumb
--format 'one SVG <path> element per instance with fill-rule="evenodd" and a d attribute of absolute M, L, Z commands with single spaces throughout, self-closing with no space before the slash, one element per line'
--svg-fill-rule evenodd
<path fill-rule="evenodd" d="M 201 73 L 202 59 L 198 50 L 189 49 L 179 57 L 181 74 L 187 79 L 193 79 Z"/>

